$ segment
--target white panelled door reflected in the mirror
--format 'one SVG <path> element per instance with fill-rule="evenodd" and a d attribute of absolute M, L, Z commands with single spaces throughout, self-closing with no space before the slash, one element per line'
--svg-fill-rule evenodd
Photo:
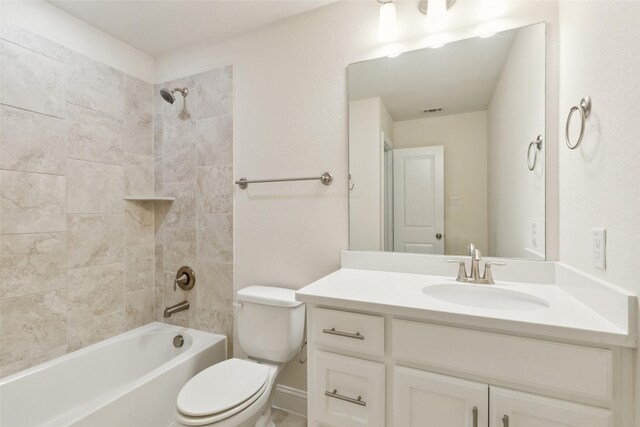
<path fill-rule="evenodd" d="M 395 252 L 444 254 L 444 147 L 393 150 Z"/>

